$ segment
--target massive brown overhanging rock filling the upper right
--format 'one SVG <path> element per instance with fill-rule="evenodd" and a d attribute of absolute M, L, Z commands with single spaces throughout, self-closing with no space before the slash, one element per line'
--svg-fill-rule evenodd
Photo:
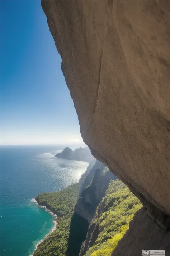
<path fill-rule="evenodd" d="M 42 0 L 81 135 L 170 214 L 170 1 Z"/>

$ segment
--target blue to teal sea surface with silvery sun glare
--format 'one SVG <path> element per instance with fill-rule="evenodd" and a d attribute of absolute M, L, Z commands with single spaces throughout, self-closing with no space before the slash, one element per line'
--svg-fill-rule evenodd
<path fill-rule="evenodd" d="M 54 216 L 33 198 L 78 182 L 88 166 L 51 154 L 63 148 L 0 147 L 0 256 L 32 255 L 36 244 L 52 230 Z"/>

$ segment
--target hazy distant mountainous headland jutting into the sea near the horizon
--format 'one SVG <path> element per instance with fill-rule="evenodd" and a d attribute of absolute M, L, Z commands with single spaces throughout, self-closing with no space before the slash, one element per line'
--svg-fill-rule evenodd
<path fill-rule="evenodd" d="M 61 153 L 56 154 L 55 157 L 88 163 L 94 160 L 94 157 L 92 156 L 88 147 L 76 148 L 75 150 L 66 147 Z"/>

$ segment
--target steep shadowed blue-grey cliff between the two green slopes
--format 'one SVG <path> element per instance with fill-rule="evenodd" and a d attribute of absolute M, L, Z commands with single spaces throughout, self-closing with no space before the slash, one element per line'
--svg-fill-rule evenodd
<path fill-rule="evenodd" d="M 91 180 L 89 180 L 89 177 L 91 177 Z M 105 195 L 110 180 L 116 179 L 117 177 L 105 168 L 103 163 L 96 160 L 95 165 L 83 182 L 83 187 L 85 187 L 86 184 L 88 185 L 81 192 L 75 206 L 70 225 L 67 256 L 79 255 L 81 244 L 86 238 L 88 227 L 96 207 Z M 101 183 L 102 185 L 100 185 Z"/>

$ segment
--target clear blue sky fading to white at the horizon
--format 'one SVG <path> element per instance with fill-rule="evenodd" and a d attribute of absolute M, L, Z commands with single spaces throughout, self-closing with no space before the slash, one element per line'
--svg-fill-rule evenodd
<path fill-rule="evenodd" d="M 0 0 L 1 145 L 82 141 L 40 0 Z"/>

